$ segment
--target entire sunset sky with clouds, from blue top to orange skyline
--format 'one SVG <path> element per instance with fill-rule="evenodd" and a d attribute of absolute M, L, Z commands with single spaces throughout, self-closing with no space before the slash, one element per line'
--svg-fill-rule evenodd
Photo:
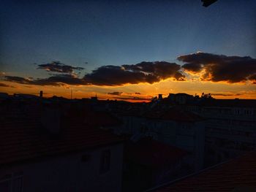
<path fill-rule="evenodd" d="M 0 92 L 256 99 L 256 1 L 1 1 Z"/>

